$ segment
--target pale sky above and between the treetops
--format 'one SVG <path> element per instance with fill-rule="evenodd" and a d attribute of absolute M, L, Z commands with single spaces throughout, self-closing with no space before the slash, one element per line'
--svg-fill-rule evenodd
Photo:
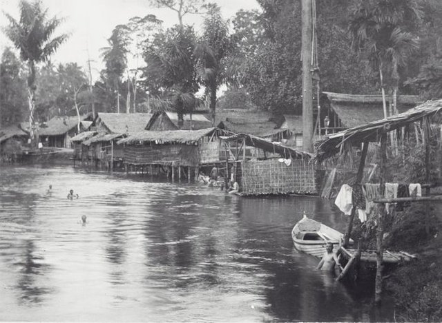
<path fill-rule="evenodd" d="M 221 7 L 224 19 L 229 19 L 240 9 L 259 9 L 256 0 L 211 0 Z M 152 8 L 148 0 L 41 0 L 44 8 L 48 8 L 49 17 L 57 16 L 65 21 L 60 25 L 55 35 L 68 33 L 70 37 L 66 43 L 52 56 L 51 61 L 57 63 L 76 62 L 86 67 L 88 52 L 94 75 L 97 81 L 99 70 L 102 69 L 100 48 L 108 45 L 106 39 L 111 37 L 115 25 L 127 23 L 131 17 L 144 17 L 146 14 L 155 14 L 164 21 L 164 27 L 177 23 L 176 12 L 170 9 Z M 7 25 L 3 12 L 19 19 L 19 0 L 0 0 L 0 26 Z M 202 17 L 187 15 L 184 23 L 195 25 L 198 30 Z M 0 51 L 12 47 L 12 43 L 3 33 L 0 33 Z"/>

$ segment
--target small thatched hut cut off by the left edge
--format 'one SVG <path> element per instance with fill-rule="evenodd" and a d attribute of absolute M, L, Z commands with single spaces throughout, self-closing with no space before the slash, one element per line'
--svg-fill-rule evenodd
<path fill-rule="evenodd" d="M 18 125 L 1 127 L 0 129 L 0 158 L 3 162 L 15 162 L 17 155 L 26 144 L 28 134 Z"/>

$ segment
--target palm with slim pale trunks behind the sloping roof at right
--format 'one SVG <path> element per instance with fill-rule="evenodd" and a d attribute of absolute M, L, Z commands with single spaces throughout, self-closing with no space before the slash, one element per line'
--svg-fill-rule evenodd
<path fill-rule="evenodd" d="M 398 71 L 410 54 L 419 48 L 417 37 L 408 30 L 419 23 L 421 7 L 419 1 L 413 0 L 359 0 L 352 11 L 349 22 L 352 49 L 365 56 L 373 72 L 379 73 L 386 118 L 385 72 L 391 80 L 396 112 Z"/>

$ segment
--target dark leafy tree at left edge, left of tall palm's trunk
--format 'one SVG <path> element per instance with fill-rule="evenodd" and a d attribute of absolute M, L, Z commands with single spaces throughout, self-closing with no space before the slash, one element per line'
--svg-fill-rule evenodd
<path fill-rule="evenodd" d="M 10 48 L 1 55 L 0 125 L 19 123 L 26 114 L 26 77 L 19 59 Z"/>

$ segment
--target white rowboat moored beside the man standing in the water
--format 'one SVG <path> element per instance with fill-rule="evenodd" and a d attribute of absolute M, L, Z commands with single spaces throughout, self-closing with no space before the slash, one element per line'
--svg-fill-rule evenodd
<path fill-rule="evenodd" d="M 327 242 L 331 242 L 336 251 L 344 235 L 327 225 L 307 218 L 304 214 L 304 217 L 291 230 L 291 238 L 297 250 L 320 258 L 325 253 Z M 352 242 L 353 240 L 350 239 L 349 243 L 352 244 Z"/>

